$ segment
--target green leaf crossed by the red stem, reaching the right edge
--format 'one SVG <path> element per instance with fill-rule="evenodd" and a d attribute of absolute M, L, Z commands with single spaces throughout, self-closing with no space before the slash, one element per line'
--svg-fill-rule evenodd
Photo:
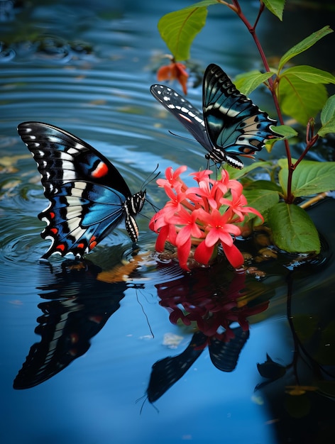
<path fill-rule="evenodd" d="M 279 182 L 287 193 L 287 162 L 282 163 Z M 335 189 L 335 162 L 302 160 L 292 175 L 292 194 L 295 197 L 310 196 Z"/>

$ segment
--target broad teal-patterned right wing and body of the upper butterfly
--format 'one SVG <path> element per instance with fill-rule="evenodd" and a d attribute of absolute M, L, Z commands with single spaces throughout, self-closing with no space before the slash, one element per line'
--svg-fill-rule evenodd
<path fill-rule="evenodd" d="M 209 65 L 203 81 L 204 124 L 214 154 L 231 166 L 242 168 L 236 155 L 252 155 L 265 141 L 280 138 L 271 126 L 277 123 L 236 89 L 217 65 Z M 236 163 L 237 162 L 237 163 Z"/>

